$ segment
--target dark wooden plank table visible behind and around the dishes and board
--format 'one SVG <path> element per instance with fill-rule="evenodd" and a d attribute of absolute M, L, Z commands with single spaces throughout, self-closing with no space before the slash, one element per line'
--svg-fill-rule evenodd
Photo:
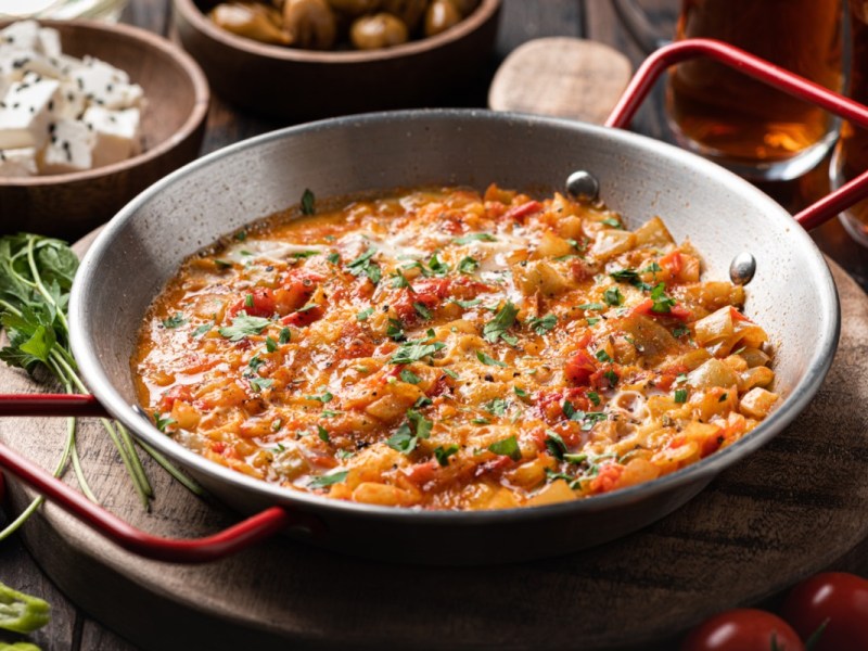
<path fill-rule="evenodd" d="M 668 25 L 674 18 L 676 0 L 644 0 L 653 18 Z M 170 0 L 131 0 L 123 21 L 171 36 Z M 505 0 L 496 58 L 492 61 L 486 79 L 471 91 L 452 99 L 451 105 L 483 106 L 487 81 L 498 63 L 519 44 L 545 36 L 574 36 L 599 40 L 614 46 L 638 63 L 642 53 L 630 41 L 617 23 L 611 4 L 595 0 Z M 667 139 L 662 114 L 660 92 L 638 116 L 634 128 L 638 131 Z M 207 153 L 238 140 L 285 126 L 278 122 L 251 118 L 233 111 L 215 98 L 208 116 L 208 129 L 203 145 Z M 806 175 L 791 183 L 763 187 L 791 210 L 807 205 L 828 191 L 826 168 Z M 853 278 L 868 290 L 868 252 L 855 244 L 837 220 L 830 221 L 814 233 L 824 252 L 835 259 Z M 21 541 L 13 537 L 0 545 L 0 579 L 28 592 L 48 599 L 53 609 L 53 620 L 48 631 L 30 636 L 31 641 L 44 650 L 130 651 L 135 644 L 119 638 L 111 630 L 89 618 L 75 604 L 66 600 L 40 572 Z M 120 596 L 119 596 L 120 597 Z M 158 625 L 158 624 L 157 624 Z"/>

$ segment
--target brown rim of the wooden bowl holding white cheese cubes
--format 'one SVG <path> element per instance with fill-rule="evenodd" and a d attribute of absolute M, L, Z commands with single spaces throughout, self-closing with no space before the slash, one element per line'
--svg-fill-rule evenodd
<path fill-rule="evenodd" d="M 0 21 L 0 28 L 4 27 L 13 23 L 14 21 Z M 0 189 L 2 188 L 34 188 L 40 186 L 61 186 L 66 183 L 76 183 L 81 181 L 89 181 L 102 177 L 108 177 L 114 174 L 130 170 L 140 165 L 145 163 L 150 163 L 156 158 L 159 158 L 167 152 L 171 151 L 178 144 L 187 140 L 192 133 L 199 129 L 202 123 L 205 120 L 208 114 L 208 104 L 210 101 L 210 91 L 208 87 L 208 82 L 205 78 L 205 73 L 202 72 L 202 68 L 199 67 L 199 64 L 195 60 L 190 56 L 187 52 L 184 52 L 181 48 L 173 43 L 166 38 L 154 34 L 152 31 L 148 31 L 146 29 L 142 29 L 139 27 L 132 27 L 131 25 L 125 25 L 120 23 L 101 23 L 98 21 L 84 21 L 84 20 L 72 20 L 72 21 L 43 21 L 40 20 L 39 24 L 43 27 L 56 27 L 56 28 L 84 28 L 86 30 L 98 31 L 103 34 L 120 34 L 126 38 L 135 40 L 145 49 L 157 49 L 162 50 L 165 54 L 173 58 L 178 64 L 181 66 L 181 69 L 186 73 L 187 77 L 189 78 L 194 93 L 193 100 L 193 110 L 190 112 L 190 115 L 187 116 L 184 123 L 180 126 L 180 128 L 175 131 L 171 136 L 166 138 L 163 142 L 158 143 L 157 145 L 127 158 L 126 161 L 120 161 L 118 163 L 113 163 L 111 165 L 104 165 L 102 167 L 94 167 L 93 169 L 86 169 L 82 171 L 72 171 L 68 174 L 53 174 L 53 175 L 39 175 L 39 176 L 31 176 L 31 177 L 0 177 Z"/>

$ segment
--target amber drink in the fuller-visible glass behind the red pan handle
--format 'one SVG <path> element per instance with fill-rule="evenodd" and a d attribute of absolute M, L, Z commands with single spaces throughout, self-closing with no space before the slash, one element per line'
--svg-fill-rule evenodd
<path fill-rule="evenodd" d="M 717 38 L 840 90 L 841 17 L 839 0 L 682 0 L 676 39 Z M 794 178 L 834 140 L 826 112 L 709 60 L 676 68 L 667 107 L 682 144 L 756 178 Z"/>

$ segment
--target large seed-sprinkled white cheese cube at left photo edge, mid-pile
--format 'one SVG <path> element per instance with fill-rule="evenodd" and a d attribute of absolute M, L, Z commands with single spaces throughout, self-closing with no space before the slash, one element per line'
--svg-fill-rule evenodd
<path fill-rule="evenodd" d="M 35 76 L 10 86 L 0 102 L 0 149 L 42 146 L 59 88 L 54 79 Z"/>

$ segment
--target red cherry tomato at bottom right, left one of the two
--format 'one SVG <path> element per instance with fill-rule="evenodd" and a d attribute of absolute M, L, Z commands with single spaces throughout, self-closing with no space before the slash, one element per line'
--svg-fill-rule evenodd
<path fill-rule="evenodd" d="M 714 615 L 685 639 L 681 651 L 804 651 L 805 646 L 787 622 L 754 609 Z"/>

